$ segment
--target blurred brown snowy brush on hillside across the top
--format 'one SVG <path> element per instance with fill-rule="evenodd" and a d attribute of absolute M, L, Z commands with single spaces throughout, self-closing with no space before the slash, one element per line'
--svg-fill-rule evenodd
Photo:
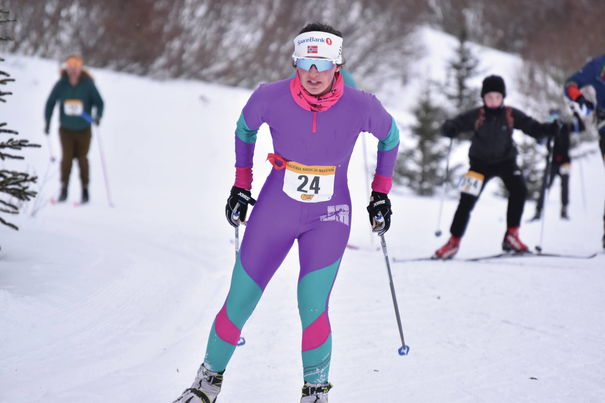
<path fill-rule="evenodd" d="M 362 87 L 406 79 L 408 34 L 432 24 L 572 71 L 603 52 L 601 0 L 5 0 L 19 15 L 7 50 L 155 77 L 253 87 L 287 77 L 292 37 L 325 21 L 345 36 Z"/>

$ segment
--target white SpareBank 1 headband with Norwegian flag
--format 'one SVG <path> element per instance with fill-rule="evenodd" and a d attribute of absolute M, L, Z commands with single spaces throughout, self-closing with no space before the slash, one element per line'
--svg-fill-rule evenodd
<path fill-rule="evenodd" d="M 304 57 L 322 57 L 342 63 L 342 38 L 321 31 L 311 31 L 294 38 L 292 59 Z"/>

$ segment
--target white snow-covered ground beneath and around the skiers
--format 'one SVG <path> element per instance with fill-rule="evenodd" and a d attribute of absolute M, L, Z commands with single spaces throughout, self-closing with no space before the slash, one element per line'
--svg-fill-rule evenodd
<path fill-rule="evenodd" d="M 74 165 L 70 203 L 52 206 L 44 202 L 58 190 L 58 163 L 48 163 L 42 111 L 57 64 L 8 55 L 3 67 L 18 81 L 0 105 L 2 121 L 44 147 L 0 166 L 48 179 L 38 204 L 13 219 L 21 230 L 0 227 L 0 402 L 172 401 L 191 384 L 229 288 L 234 246 L 224 202 L 235 121 L 250 91 L 93 70 L 106 102 L 100 136 L 115 207 L 106 201 L 98 131 L 90 205 L 71 204 L 80 192 Z M 51 132 L 57 153 L 56 115 Z M 266 127 L 258 139 L 253 195 L 272 151 Z M 376 142 L 367 142 L 371 161 Z M 362 161 L 360 141 L 349 173 L 351 243 L 367 246 Z M 558 219 L 558 182 L 546 204 L 547 252 L 600 250 L 605 170 L 598 155 L 583 162 L 584 210 L 579 169 L 573 164 L 571 221 Z M 477 204 L 457 260 L 391 263 L 409 356 L 397 355 L 382 254 L 347 250 L 330 301 L 331 402 L 603 400 L 605 255 L 465 262 L 500 251 L 506 201 L 492 195 L 496 187 Z M 437 239 L 439 199 L 397 191 L 392 199 L 391 258 L 429 256 L 445 242 L 456 200 L 445 202 Z M 533 208 L 526 205 L 524 222 Z M 524 224 L 521 235 L 537 244 L 540 224 Z M 295 246 L 243 329 L 247 343 L 227 368 L 220 403 L 298 401 L 297 279 Z"/>

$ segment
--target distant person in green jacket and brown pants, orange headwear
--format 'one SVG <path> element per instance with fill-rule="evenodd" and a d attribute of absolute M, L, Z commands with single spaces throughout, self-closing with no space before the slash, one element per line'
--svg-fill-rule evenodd
<path fill-rule="evenodd" d="M 91 123 L 93 106 L 97 112 L 94 122 L 99 125 L 103 115 L 103 100 L 94 85 L 93 77 L 82 69 L 82 59 L 70 56 L 65 60 L 61 78 L 54 85 L 46 102 L 44 133 L 50 132 L 50 118 L 57 101 L 60 102 L 59 135 L 63 158 L 61 160 L 61 194 L 59 201 L 67 199 L 67 186 L 70 182 L 71 162 L 77 158 L 82 179 L 82 203 L 87 203 L 88 195 L 88 149 L 92 137 Z M 87 119 L 88 118 L 88 119 Z"/>

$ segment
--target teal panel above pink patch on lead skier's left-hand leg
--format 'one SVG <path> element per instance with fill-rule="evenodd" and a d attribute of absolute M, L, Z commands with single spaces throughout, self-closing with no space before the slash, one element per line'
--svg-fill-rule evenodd
<path fill-rule="evenodd" d="M 241 330 L 260 301 L 263 291 L 244 271 L 240 256 L 241 254 L 238 254 L 235 260 L 231 276 L 231 288 L 227 295 L 227 317 Z"/>

